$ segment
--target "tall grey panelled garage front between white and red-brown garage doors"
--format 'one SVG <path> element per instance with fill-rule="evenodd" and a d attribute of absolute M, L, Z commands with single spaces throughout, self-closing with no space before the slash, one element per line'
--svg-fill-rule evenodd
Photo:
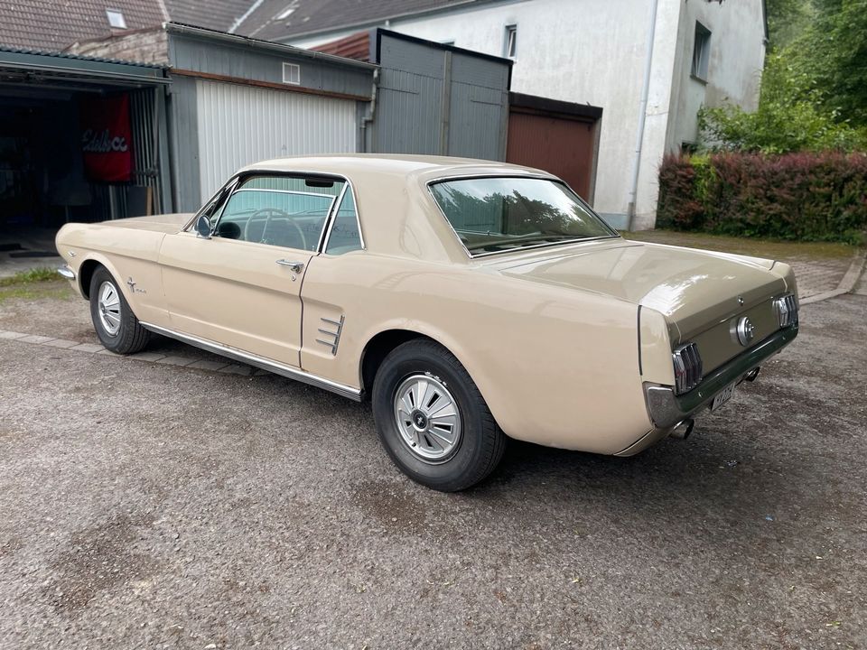
<path fill-rule="evenodd" d="M 379 33 L 371 151 L 504 160 L 508 60 Z"/>

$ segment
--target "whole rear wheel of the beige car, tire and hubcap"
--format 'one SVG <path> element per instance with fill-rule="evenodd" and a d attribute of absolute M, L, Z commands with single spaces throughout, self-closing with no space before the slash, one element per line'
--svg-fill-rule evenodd
<path fill-rule="evenodd" d="M 466 489 L 502 458 L 506 436 L 488 404 L 457 358 L 433 341 L 395 348 L 379 367 L 372 402 L 388 455 L 424 486 Z"/>

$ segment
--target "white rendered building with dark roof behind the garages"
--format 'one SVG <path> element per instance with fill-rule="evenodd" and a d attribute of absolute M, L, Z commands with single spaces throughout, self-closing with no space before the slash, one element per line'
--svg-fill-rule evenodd
<path fill-rule="evenodd" d="M 763 0 L 267 0 L 255 13 L 238 32 L 310 48 L 385 26 L 512 58 L 516 92 L 602 107 L 594 207 L 618 228 L 653 227 L 659 163 L 695 143 L 699 107 L 756 107 L 766 43 Z"/>

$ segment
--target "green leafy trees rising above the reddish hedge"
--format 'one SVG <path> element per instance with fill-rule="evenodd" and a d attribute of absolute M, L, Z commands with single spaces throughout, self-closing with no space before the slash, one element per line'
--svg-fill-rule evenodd
<path fill-rule="evenodd" d="M 769 0 L 778 38 L 759 108 L 705 108 L 705 148 L 764 153 L 867 149 L 867 0 Z M 797 32 L 796 35 L 793 35 Z"/>

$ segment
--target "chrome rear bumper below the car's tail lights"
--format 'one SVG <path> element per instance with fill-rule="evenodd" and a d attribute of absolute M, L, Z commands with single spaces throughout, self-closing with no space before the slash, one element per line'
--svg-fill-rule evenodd
<path fill-rule="evenodd" d="M 738 357 L 702 378 L 701 383 L 689 393 L 675 395 L 672 386 L 645 384 L 644 396 L 648 414 L 657 431 L 674 428 L 680 422 L 707 406 L 723 388 L 740 382 L 751 370 L 785 348 L 797 337 L 797 323 L 776 331 L 759 345 L 750 348 Z"/>

